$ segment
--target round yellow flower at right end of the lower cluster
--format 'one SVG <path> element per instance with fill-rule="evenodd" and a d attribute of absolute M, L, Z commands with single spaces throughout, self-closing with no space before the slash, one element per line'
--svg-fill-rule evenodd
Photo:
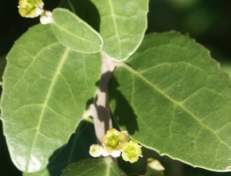
<path fill-rule="evenodd" d="M 122 158 L 124 161 L 135 163 L 142 157 L 141 146 L 136 142 L 129 141 L 122 150 Z"/>

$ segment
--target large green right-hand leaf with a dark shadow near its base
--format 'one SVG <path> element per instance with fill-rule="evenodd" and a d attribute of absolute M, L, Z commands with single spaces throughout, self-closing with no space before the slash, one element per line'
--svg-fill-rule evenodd
<path fill-rule="evenodd" d="M 145 147 L 230 171 L 231 82 L 208 51 L 175 32 L 147 36 L 111 82 L 115 120 Z"/>

